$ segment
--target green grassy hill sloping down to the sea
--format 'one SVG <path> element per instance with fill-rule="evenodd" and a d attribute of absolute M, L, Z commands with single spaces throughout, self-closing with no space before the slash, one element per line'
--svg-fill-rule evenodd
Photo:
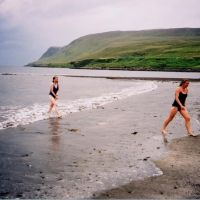
<path fill-rule="evenodd" d="M 29 66 L 200 71 L 200 28 L 114 31 L 50 47 Z"/>

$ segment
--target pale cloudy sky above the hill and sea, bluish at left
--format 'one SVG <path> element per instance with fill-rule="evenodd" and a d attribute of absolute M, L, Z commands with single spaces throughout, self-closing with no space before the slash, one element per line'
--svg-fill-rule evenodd
<path fill-rule="evenodd" d="M 0 65 L 113 30 L 200 27 L 200 0 L 0 0 Z"/>

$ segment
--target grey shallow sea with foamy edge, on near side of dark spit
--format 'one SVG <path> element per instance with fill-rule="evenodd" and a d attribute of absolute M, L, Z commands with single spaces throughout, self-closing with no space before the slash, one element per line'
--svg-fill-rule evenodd
<path fill-rule="evenodd" d="M 9 70 L 11 74 L 0 75 L 0 93 L 2 94 L 0 96 L 0 129 L 49 118 L 47 115 L 48 93 L 55 69 L 14 68 Z M 24 70 L 24 73 L 18 72 L 13 75 L 15 70 Z M 152 91 L 157 87 L 152 81 L 64 76 L 59 77 L 59 84 L 58 108 L 63 116 L 71 112 L 97 108 L 119 99 Z M 55 116 L 54 113 L 52 116 Z"/>

